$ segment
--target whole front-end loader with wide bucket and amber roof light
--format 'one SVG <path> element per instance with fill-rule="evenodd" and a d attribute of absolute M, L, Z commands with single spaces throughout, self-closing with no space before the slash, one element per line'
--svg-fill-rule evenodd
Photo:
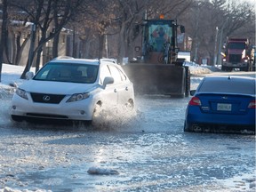
<path fill-rule="evenodd" d="M 178 59 L 178 28 L 184 26 L 177 20 L 144 20 L 142 32 L 136 40 L 137 56 L 124 65 L 124 70 L 134 84 L 135 94 L 165 94 L 175 97 L 188 96 L 190 76 L 184 59 Z"/>

